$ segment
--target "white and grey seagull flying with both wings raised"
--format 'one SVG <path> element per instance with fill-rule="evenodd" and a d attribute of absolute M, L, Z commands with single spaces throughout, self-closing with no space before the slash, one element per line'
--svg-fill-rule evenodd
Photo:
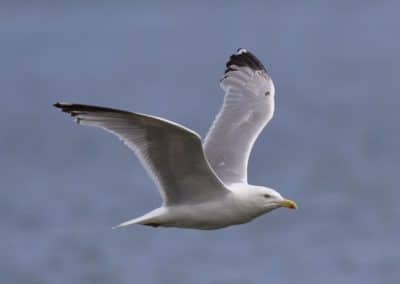
<path fill-rule="evenodd" d="M 275 87 L 261 61 L 246 49 L 230 56 L 220 86 L 224 102 L 204 140 L 164 118 L 106 107 L 61 103 L 81 125 L 115 134 L 138 157 L 163 203 L 131 224 L 213 230 L 247 223 L 279 207 L 296 209 L 276 190 L 247 182 L 257 137 L 271 120 Z"/>

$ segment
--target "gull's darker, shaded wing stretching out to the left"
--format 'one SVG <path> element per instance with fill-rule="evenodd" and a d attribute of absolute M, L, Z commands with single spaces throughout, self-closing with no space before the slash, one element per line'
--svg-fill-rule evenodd
<path fill-rule="evenodd" d="M 173 122 L 122 110 L 56 103 L 82 125 L 118 136 L 134 151 L 165 204 L 202 202 L 228 192 L 209 166 L 200 137 Z"/>

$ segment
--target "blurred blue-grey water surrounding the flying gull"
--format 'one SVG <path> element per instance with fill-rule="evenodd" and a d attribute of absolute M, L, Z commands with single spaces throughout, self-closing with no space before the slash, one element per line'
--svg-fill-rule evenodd
<path fill-rule="evenodd" d="M 399 2 L 144 3 L 2 2 L 0 283 L 398 283 Z M 118 139 L 52 103 L 204 136 L 238 47 L 277 89 L 249 179 L 299 210 L 217 231 L 111 230 L 159 194 Z"/>

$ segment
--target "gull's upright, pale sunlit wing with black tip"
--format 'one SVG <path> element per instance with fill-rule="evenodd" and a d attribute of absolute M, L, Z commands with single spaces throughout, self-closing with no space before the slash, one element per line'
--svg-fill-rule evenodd
<path fill-rule="evenodd" d="M 260 60 L 238 49 L 226 63 L 221 88 L 224 103 L 205 138 L 205 153 L 224 183 L 247 183 L 251 149 L 274 113 L 274 84 Z"/>

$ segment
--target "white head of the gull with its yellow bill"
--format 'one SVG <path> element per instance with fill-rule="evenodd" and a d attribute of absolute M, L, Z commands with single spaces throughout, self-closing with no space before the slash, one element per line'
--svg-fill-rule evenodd
<path fill-rule="evenodd" d="M 256 206 L 261 207 L 266 212 L 279 207 L 297 209 L 296 202 L 283 198 L 279 192 L 272 188 L 258 186 L 253 195 Z"/>

